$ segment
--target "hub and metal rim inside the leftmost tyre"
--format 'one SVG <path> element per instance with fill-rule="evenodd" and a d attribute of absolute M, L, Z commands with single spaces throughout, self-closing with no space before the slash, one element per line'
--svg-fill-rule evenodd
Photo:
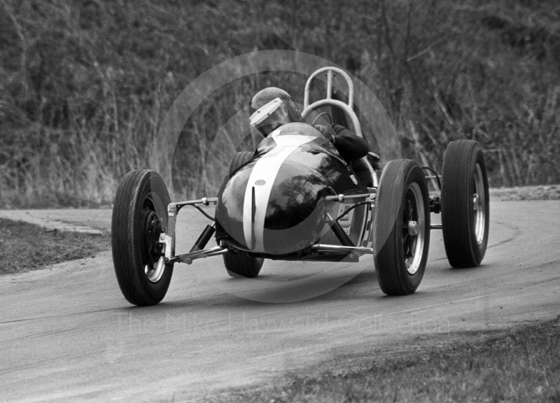
<path fill-rule="evenodd" d="M 162 256 L 160 234 L 162 234 L 161 220 L 155 211 L 143 210 L 144 223 L 144 274 L 151 283 L 157 283 L 165 271 L 165 258 Z"/>

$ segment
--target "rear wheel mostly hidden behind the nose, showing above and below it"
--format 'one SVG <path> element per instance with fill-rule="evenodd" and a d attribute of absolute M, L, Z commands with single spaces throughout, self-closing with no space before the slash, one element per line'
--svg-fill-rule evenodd
<path fill-rule="evenodd" d="M 254 157 L 254 153 L 250 151 L 240 151 L 235 153 L 232 162 L 230 163 L 230 175 L 235 172 L 241 165 L 246 164 Z M 246 252 L 239 251 L 238 253 L 228 251 L 223 255 L 223 263 L 228 274 L 235 278 L 254 278 L 258 276 L 262 263 L 265 260 L 259 257 L 252 257 Z"/>

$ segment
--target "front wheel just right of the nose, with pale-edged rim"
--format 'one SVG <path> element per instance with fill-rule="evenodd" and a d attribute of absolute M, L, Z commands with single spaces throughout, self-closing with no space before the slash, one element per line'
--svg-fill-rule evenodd
<path fill-rule="evenodd" d="M 430 247 L 428 184 L 412 160 L 388 162 L 374 213 L 374 263 L 387 295 L 408 295 L 420 285 Z"/>

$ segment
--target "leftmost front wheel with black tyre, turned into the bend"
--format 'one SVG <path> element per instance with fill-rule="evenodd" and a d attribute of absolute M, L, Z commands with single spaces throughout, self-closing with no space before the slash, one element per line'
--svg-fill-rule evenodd
<path fill-rule="evenodd" d="M 155 171 L 130 171 L 118 187 L 111 221 L 113 265 L 131 304 L 158 304 L 169 288 L 173 265 L 165 264 L 159 239 L 167 227 L 170 202 Z"/>

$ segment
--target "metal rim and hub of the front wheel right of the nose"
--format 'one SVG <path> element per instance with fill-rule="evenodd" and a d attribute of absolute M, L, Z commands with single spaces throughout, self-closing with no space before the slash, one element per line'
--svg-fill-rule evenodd
<path fill-rule="evenodd" d="M 402 211 L 402 250 L 407 272 L 411 276 L 418 271 L 422 261 L 426 222 L 422 190 L 418 183 L 409 185 Z"/>

